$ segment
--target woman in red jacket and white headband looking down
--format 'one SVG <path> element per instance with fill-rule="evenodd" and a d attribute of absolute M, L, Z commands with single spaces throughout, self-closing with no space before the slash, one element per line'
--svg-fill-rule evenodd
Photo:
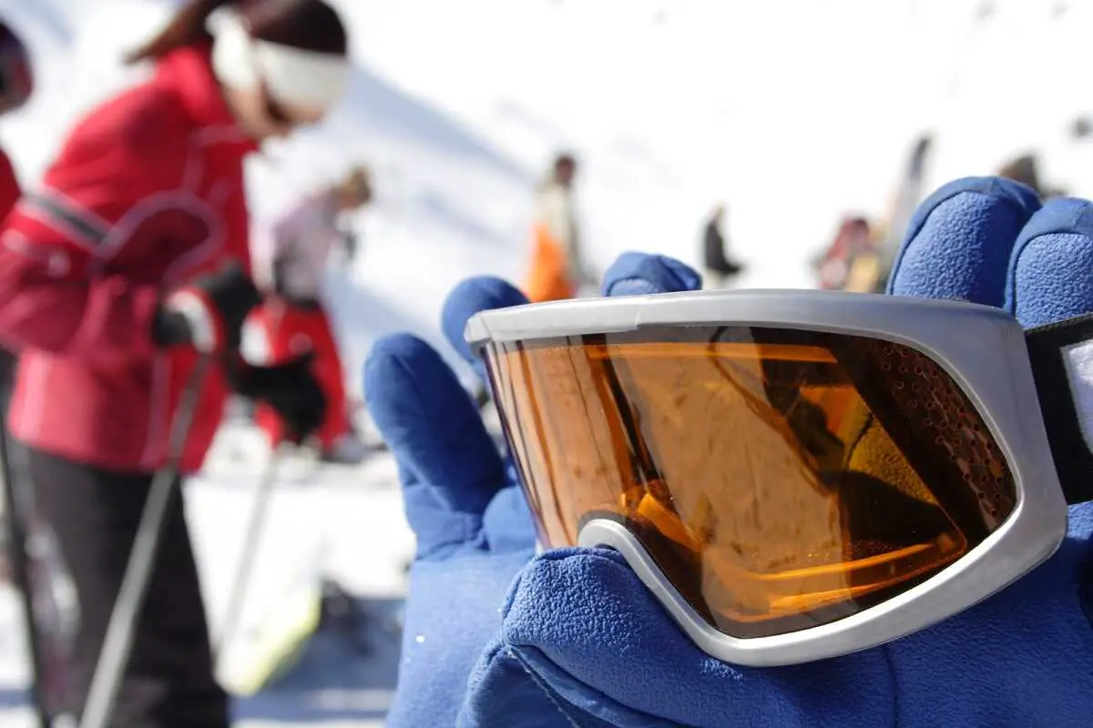
<path fill-rule="evenodd" d="M 183 475 L 201 466 L 228 391 L 272 406 L 299 437 L 321 421 L 306 361 L 252 368 L 236 354 L 259 300 L 243 163 L 262 140 L 324 118 L 346 86 L 346 56 L 321 0 L 191 0 L 129 59 L 154 62 L 153 77 L 84 117 L 4 225 L 0 345 L 20 355 L 10 428 L 79 595 L 77 714 L 198 357 L 220 366 L 201 387 Z M 180 502 L 162 538 L 113 725 L 226 726 Z"/>

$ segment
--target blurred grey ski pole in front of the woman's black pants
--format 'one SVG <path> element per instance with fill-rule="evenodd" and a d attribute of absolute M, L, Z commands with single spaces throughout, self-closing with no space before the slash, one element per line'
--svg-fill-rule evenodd
<path fill-rule="evenodd" d="M 172 418 L 167 464 L 155 472 L 149 488 L 148 500 L 141 512 L 140 524 L 129 551 L 129 563 L 118 589 L 110 621 L 106 628 L 103 647 L 98 653 L 92 675 L 87 702 L 80 717 L 80 728 L 107 728 L 114 703 L 117 701 L 129 656 L 132 652 L 133 632 L 140 618 L 148 587 L 152 581 L 160 537 L 171 503 L 181 491 L 179 464 L 186 439 L 197 410 L 201 385 L 212 359 L 202 356 L 183 391 L 178 409 Z"/>

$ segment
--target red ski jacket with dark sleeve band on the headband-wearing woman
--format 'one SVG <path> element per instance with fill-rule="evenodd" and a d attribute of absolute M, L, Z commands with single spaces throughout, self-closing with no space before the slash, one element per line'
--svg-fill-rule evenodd
<path fill-rule="evenodd" d="M 157 349 L 161 297 L 231 256 L 249 270 L 244 157 L 207 46 L 92 110 L 0 235 L 0 345 L 20 353 L 13 437 L 78 463 L 150 473 L 197 362 Z M 205 380 L 183 457 L 201 467 L 226 385 Z"/>

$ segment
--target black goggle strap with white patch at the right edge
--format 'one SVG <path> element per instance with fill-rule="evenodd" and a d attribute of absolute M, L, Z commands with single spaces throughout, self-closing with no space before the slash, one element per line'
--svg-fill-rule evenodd
<path fill-rule="evenodd" d="M 1025 342 L 1067 503 L 1093 501 L 1093 314 L 1030 329 Z"/>

